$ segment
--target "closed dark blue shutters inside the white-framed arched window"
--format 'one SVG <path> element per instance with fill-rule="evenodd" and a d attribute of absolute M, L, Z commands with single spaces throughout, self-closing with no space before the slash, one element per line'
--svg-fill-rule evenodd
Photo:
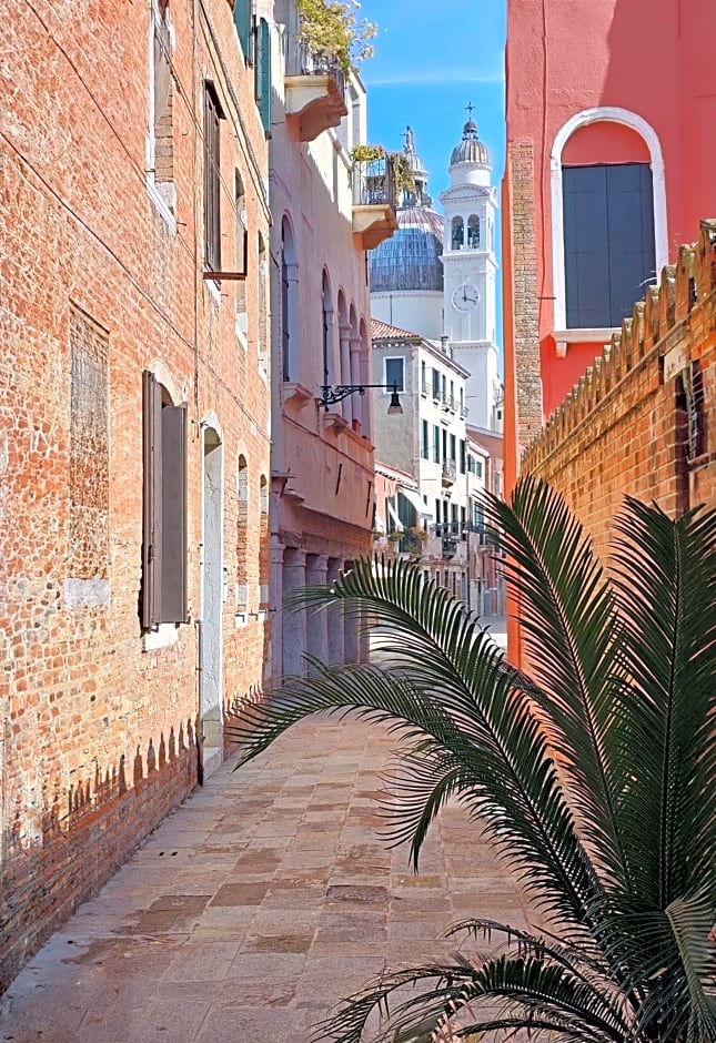
<path fill-rule="evenodd" d="M 655 277 L 648 163 L 563 166 L 567 328 L 618 326 Z"/>

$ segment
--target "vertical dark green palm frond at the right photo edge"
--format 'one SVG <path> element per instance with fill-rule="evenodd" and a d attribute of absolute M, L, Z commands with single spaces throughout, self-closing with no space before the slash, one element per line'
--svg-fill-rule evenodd
<path fill-rule="evenodd" d="M 663 910 L 704 880 L 716 888 L 716 513 L 672 522 L 627 499 L 615 527 L 628 649 L 614 722 L 619 829 L 635 890 Z"/>

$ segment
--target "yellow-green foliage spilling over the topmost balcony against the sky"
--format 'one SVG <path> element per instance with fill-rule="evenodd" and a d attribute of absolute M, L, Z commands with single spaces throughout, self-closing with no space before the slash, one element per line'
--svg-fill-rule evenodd
<path fill-rule="evenodd" d="M 301 37 L 312 50 L 334 57 L 345 75 L 373 54 L 377 26 L 359 21 L 360 7 L 357 0 L 299 0 Z"/>

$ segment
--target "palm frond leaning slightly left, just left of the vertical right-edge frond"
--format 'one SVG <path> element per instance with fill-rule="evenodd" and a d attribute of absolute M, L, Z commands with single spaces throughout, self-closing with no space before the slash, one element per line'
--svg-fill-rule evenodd
<path fill-rule="evenodd" d="M 485 498 L 492 535 L 508 555 L 521 599 L 521 627 L 537 682 L 535 699 L 551 737 L 591 855 L 606 880 L 627 885 L 609 762 L 616 662 L 614 600 L 591 543 L 564 499 L 532 476 L 512 504 Z M 539 692 L 543 692 L 541 696 Z"/>

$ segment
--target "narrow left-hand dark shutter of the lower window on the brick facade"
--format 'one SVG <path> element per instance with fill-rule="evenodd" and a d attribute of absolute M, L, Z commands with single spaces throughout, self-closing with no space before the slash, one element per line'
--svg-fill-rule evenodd
<path fill-rule="evenodd" d="M 161 616 L 162 541 L 162 395 L 154 376 L 142 374 L 142 628 L 149 630 Z"/>

